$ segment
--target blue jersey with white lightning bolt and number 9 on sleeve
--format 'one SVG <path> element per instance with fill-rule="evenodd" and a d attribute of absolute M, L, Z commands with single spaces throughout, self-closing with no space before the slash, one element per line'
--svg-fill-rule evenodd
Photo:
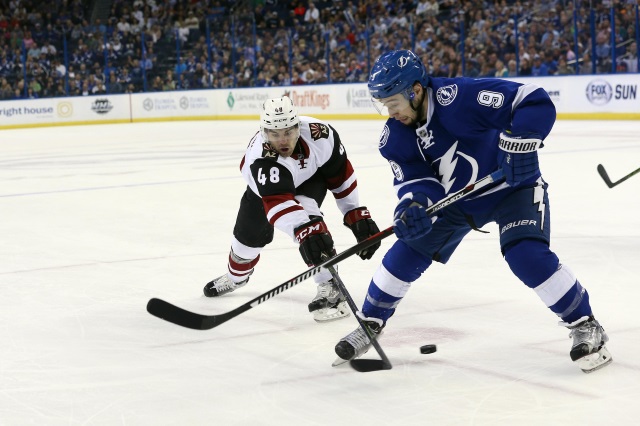
<path fill-rule="evenodd" d="M 544 140 L 556 118 L 548 94 L 533 84 L 430 78 L 426 96 L 426 124 L 407 126 L 390 118 L 380 136 L 380 153 L 391 165 L 398 198 L 424 193 L 437 202 L 498 169 L 501 132 Z M 468 213 L 488 209 L 509 188 L 502 183 L 460 207 Z"/>

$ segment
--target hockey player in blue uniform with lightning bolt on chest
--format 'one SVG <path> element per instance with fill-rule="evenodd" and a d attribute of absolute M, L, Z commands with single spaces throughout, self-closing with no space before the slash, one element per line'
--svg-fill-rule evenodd
<path fill-rule="evenodd" d="M 470 231 L 495 222 L 511 271 L 570 330 L 571 359 L 587 373 L 609 364 L 608 337 L 593 316 L 587 290 L 549 248 L 547 184 L 537 154 L 556 119 L 547 93 L 500 79 L 432 78 L 409 50 L 382 55 L 368 86 L 374 103 L 389 115 L 379 149 L 391 165 L 399 202 L 398 240 L 358 312 L 365 326 L 379 334 L 433 261 L 446 263 Z M 437 217 L 426 215 L 425 207 L 499 168 L 505 180 Z M 359 327 L 336 345 L 337 363 L 370 346 Z"/>

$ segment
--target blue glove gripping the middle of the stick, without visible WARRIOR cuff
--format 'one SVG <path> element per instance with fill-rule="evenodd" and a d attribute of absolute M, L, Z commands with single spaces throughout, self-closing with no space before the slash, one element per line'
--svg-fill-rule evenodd
<path fill-rule="evenodd" d="M 414 240 L 431 232 L 436 218 L 427 215 L 425 209 L 432 203 L 426 195 L 417 193 L 405 197 L 393 214 L 393 232 L 401 240 Z"/>

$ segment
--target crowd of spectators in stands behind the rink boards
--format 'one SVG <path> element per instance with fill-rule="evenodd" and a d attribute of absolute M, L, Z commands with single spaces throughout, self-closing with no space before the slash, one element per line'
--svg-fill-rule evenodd
<path fill-rule="evenodd" d="M 400 48 L 445 77 L 638 72 L 629 0 L 89 4 L 0 0 L 1 99 L 363 82 Z"/>

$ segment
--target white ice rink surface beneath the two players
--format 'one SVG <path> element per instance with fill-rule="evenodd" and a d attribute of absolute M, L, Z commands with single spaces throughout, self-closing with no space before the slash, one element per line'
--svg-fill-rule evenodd
<path fill-rule="evenodd" d="M 391 223 L 382 123 L 335 121 L 362 203 Z M 559 121 L 541 151 L 552 249 L 588 289 L 613 364 L 582 373 L 568 331 L 502 260 L 495 226 L 418 280 L 381 345 L 393 369 L 332 368 L 353 317 L 315 323 L 313 280 L 217 328 L 146 312 L 159 297 L 224 313 L 304 271 L 282 233 L 250 284 L 226 270 L 252 122 L 0 132 L 0 425 L 640 424 L 640 122 Z M 333 197 L 338 251 L 354 244 Z M 395 237 L 340 272 L 358 306 Z M 421 355 L 426 343 L 438 352 Z M 370 351 L 365 357 L 374 358 Z"/>

